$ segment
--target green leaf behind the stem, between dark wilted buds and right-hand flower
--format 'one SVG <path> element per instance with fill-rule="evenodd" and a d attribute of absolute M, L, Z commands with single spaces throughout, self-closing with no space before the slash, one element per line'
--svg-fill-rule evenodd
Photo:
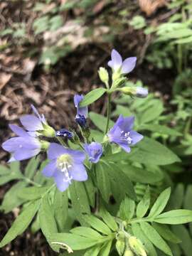
<path fill-rule="evenodd" d="M 102 114 L 97 114 L 95 112 L 90 112 L 89 117 L 90 117 L 91 121 L 93 122 L 93 124 L 95 124 L 95 126 L 98 129 L 100 129 L 100 131 L 105 132 L 106 124 L 107 124 L 106 117 L 103 117 Z M 114 122 L 112 122 L 112 120 L 110 120 L 109 127 L 111 128 L 113 125 L 114 125 Z"/>

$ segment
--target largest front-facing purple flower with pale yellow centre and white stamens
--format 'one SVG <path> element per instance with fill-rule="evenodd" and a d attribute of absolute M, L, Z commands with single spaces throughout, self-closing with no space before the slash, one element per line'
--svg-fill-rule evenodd
<path fill-rule="evenodd" d="M 66 149 L 60 144 L 51 143 L 48 159 L 50 163 L 43 169 L 43 175 L 53 177 L 60 191 L 65 191 L 72 180 L 87 180 L 87 172 L 83 165 L 85 154 L 82 151 Z"/>

